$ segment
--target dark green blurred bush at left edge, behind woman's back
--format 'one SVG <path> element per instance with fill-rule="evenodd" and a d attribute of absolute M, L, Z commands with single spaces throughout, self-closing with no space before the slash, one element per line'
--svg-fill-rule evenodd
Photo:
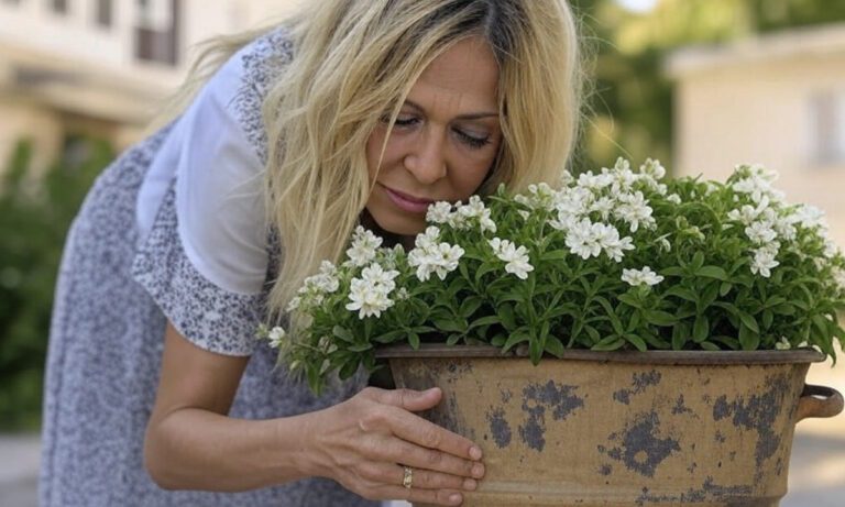
<path fill-rule="evenodd" d="M 0 183 L 0 429 L 31 429 L 41 415 L 53 289 L 67 229 L 99 170 L 113 157 L 102 142 L 33 174 L 33 146 L 18 144 Z"/>

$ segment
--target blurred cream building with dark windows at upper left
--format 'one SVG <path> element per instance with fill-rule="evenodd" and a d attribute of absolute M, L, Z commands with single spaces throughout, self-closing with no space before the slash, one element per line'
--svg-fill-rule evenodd
<path fill-rule="evenodd" d="M 79 134 L 136 140 L 180 82 L 188 47 L 300 0 L 0 0 L 0 170 L 29 137 L 45 165 Z"/>

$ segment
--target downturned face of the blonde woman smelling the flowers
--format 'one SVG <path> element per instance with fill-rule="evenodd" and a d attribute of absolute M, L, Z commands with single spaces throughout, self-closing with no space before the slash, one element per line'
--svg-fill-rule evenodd
<path fill-rule="evenodd" d="M 481 186 L 502 142 L 497 82 L 487 43 L 465 38 L 426 68 L 389 136 L 386 119 L 376 126 L 366 143 L 374 180 L 366 209 L 378 227 L 416 234 L 426 227 L 429 203 L 465 201 Z"/>

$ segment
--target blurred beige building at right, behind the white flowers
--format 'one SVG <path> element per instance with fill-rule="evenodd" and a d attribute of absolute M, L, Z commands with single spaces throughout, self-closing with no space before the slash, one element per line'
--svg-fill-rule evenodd
<path fill-rule="evenodd" d="M 682 49 L 668 71 L 677 174 L 761 163 L 789 201 L 825 210 L 845 246 L 845 24 Z"/>

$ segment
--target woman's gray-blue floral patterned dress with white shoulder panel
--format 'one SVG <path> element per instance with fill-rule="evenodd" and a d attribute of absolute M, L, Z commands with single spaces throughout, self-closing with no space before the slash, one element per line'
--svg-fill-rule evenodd
<path fill-rule="evenodd" d="M 251 43 L 221 70 L 228 74 L 216 78 L 223 92 L 233 90 L 231 100 L 221 103 L 200 96 L 193 106 L 194 120 L 186 113 L 130 148 L 90 190 L 68 234 L 56 289 L 45 379 L 42 506 L 376 505 L 318 478 L 233 494 L 166 492 L 152 482 L 142 462 L 167 320 L 198 346 L 251 356 L 233 417 L 266 419 L 317 410 L 361 388 L 356 379 L 316 398 L 276 368 L 272 350 L 255 342 L 266 296 L 262 282 L 272 279 L 270 266 L 279 254 L 272 241 L 261 243 L 261 252 L 255 245 L 243 249 L 255 258 L 263 254 L 266 266 L 264 273 L 255 273 L 253 266 L 244 276 L 252 285 L 244 288 L 237 285 L 237 276 L 232 282 L 238 265 L 226 272 L 238 261 L 226 241 L 217 244 L 218 250 L 204 251 L 185 241 L 191 234 L 201 239 L 201 231 L 183 231 L 186 224 L 201 229 L 218 219 L 195 213 L 183 223 L 179 181 L 189 191 L 194 181 L 213 179 L 219 169 L 216 164 L 191 163 L 196 159 L 191 155 L 205 153 L 209 135 L 227 137 L 234 130 L 231 136 L 237 140 L 215 141 L 228 146 L 221 153 L 251 153 L 230 156 L 229 166 L 240 170 L 238 162 L 248 159 L 260 167 L 266 157 L 261 102 L 274 73 L 290 58 L 290 43 L 282 30 Z M 220 106 L 215 114 L 231 120 L 230 125 L 204 123 L 201 114 L 215 103 Z M 190 130 L 191 121 L 205 130 Z M 237 148 L 227 144 L 230 141 Z M 217 155 L 206 154 L 206 159 L 209 156 Z M 183 173 L 185 167 L 194 173 Z M 204 187 L 205 194 L 195 200 L 201 206 L 226 201 L 209 188 L 220 185 Z M 227 209 L 219 208 L 220 213 Z M 244 228 L 229 229 L 237 239 Z M 211 242 L 200 241 L 200 246 L 229 238 L 218 230 L 226 227 L 210 227 L 206 235 Z M 263 227 L 252 230 L 253 238 L 255 231 L 266 234 Z M 223 266 L 220 276 L 215 275 L 216 265 Z"/>

